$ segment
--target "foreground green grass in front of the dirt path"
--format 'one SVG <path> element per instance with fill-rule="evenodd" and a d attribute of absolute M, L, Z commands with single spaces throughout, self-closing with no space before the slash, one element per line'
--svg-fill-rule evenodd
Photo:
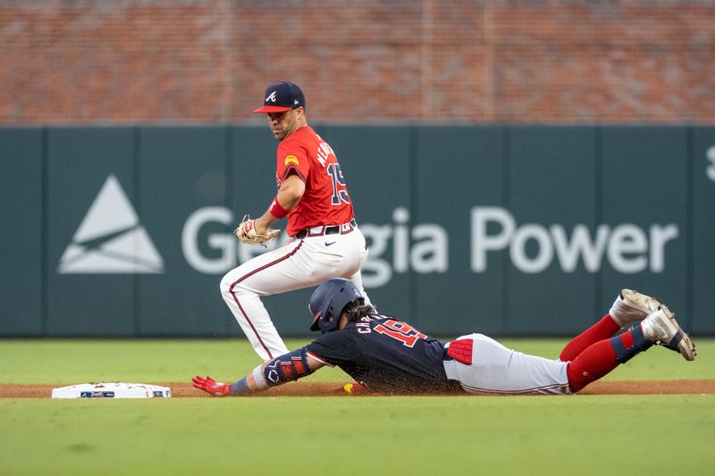
<path fill-rule="evenodd" d="M 704 474 L 715 438 L 712 396 L 34 399 L 0 413 L 4 474 Z"/>

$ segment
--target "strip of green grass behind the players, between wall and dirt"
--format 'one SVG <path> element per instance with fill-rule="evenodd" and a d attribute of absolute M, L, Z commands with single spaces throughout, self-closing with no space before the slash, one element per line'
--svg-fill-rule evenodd
<path fill-rule="evenodd" d="M 527 354 L 558 358 L 565 340 L 503 339 Z M 305 339 L 289 339 L 290 349 Z M 664 348 L 653 348 L 620 366 L 609 380 L 715 379 L 715 339 L 697 339 L 698 358 L 686 363 Z M 189 381 L 196 373 L 238 380 L 260 359 L 248 341 L 231 340 L 0 340 L 0 383 L 88 381 Z M 313 380 L 345 380 L 325 368 Z"/>

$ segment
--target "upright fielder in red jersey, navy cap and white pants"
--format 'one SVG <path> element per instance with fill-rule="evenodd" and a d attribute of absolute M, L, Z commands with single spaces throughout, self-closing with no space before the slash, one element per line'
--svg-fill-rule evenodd
<path fill-rule="evenodd" d="M 264 360 L 288 352 L 260 296 L 316 286 L 345 278 L 364 292 L 360 268 L 367 259 L 366 240 L 357 228 L 352 202 L 332 147 L 307 125 L 300 88 L 282 81 L 265 90 L 265 113 L 273 137 L 278 192 L 259 218 L 241 224 L 242 233 L 271 233 L 286 217 L 288 244 L 241 264 L 221 281 L 223 300 L 248 340 Z M 241 235 L 241 233 L 239 233 Z"/>

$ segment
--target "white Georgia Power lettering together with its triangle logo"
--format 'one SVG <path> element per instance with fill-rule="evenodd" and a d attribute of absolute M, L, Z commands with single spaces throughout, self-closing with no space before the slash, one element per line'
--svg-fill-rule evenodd
<path fill-rule="evenodd" d="M 490 254 L 508 252 L 510 263 L 526 273 L 545 271 L 556 262 L 561 271 L 597 272 L 604 262 L 622 273 L 665 270 L 668 244 L 679 230 L 674 223 L 652 224 L 643 229 L 633 223 L 600 224 L 595 230 L 585 224 L 567 229 L 559 223 L 518 224 L 501 206 L 475 206 L 469 223 L 469 263 L 475 273 L 488 271 Z M 209 223 L 232 228 L 235 219 L 223 206 L 202 207 L 190 213 L 181 232 L 181 250 L 195 271 L 222 274 L 239 263 L 274 249 L 285 235 L 264 249 L 240 243 L 231 232 L 200 233 Z M 408 226 L 409 212 L 397 207 L 392 222 L 359 224 L 370 245 L 363 268 L 367 288 L 387 284 L 395 272 L 444 273 L 449 271 L 449 236 L 437 223 Z M 199 237 L 205 241 L 199 243 Z M 386 255 L 391 246 L 391 255 Z M 528 246 L 528 252 L 527 252 Z M 210 249 L 210 256 L 201 249 Z M 161 273 L 164 261 L 149 233 L 141 225 L 119 180 L 110 175 L 60 259 L 58 271 L 69 273 Z"/>

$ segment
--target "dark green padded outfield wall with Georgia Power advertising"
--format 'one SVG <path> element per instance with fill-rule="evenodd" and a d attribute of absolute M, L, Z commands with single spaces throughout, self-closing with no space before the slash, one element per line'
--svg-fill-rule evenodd
<path fill-rule="evenodd" d="M 366 287 L 439 335 L 569 335 L 619 288 L 715 333 L 715 127 L 318 126 Z M 231 231 L 275 191 L 265 127 L 0 129 L 0 336 L 237 336 Z M 307 335 L 310 290 L 265 298 Z"/>

